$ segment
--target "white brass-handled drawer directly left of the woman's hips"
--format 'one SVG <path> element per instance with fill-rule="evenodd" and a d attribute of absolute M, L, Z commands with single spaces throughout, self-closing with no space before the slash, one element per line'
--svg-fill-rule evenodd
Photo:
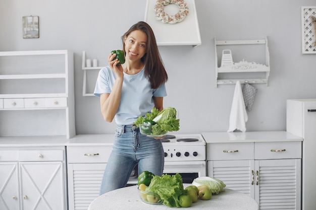
<path fill-rule="evenodd" d="M 112 146 L 68 146 L 68 163 L 107 163 Z"/>

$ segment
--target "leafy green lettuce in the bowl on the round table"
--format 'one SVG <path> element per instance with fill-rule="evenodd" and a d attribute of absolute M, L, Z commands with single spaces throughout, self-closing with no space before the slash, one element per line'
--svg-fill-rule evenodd
<path fill-rule="evenodd" d="M 162 202 L 169 207 L 181 207 L 179 196 L 186 193 L 183 188 L 182 176 L 178 173 L 153 176 L 145 191 L 156 193 Z"/>

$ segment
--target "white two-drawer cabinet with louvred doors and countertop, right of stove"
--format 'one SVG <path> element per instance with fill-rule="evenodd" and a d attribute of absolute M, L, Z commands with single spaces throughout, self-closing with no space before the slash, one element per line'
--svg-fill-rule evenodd
<path fill-rule="evenodd" d="M 255 132 L 250 137 L 247 132 L 234 137 L 228 133 L 221 135 L 225 140 L 212 139 L 207 144 L 208 176 L 250 195 L 260 209 L 301 209 L 301 139 L 275 134 L 269 139 L 271 135 L 262 132 L 259 137 Z M 279 141 L 278 135 L 283 135 Z M 207 143 L 212 135 L 203 136 Z"/>

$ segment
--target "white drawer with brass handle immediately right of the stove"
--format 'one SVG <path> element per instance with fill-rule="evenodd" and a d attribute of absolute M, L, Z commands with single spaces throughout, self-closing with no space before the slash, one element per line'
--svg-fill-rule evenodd
<path fill-rule="evenodd" d="M 207 160 L 249 160 L 253 153 L 253 143 L 207 144 Z"/>

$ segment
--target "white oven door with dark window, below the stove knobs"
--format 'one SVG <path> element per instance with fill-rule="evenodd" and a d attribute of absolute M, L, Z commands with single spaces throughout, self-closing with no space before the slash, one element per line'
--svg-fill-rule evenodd
<path fill-rule="evenodd" d="M 176 173 L 182 176 L 183 183 L 191 184 L 195 178 L 206 176 L 206 163 L 205 161 L 165 162 L 164 174 Z"/>

